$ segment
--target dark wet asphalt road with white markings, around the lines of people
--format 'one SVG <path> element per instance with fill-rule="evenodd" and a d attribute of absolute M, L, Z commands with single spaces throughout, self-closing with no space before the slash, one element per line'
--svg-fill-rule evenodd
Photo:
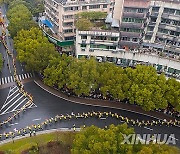
<path fill-rule="evenodd" d="M 2 11 L 5 13 L 5 11 Z M 9 39 L 7 40 L 9 41 Z M 10 40 L 11 41 L 11 40 Z M 10 45 L 11 44 L 11 45 Z M 10 49 L 13 48 L 12 43 L 8 43 L 8 47 Z M 3 56 L 8 61 L 8 57 L 6 56 L 6 52 L 4 47 L 0 46 L 0 52 L 3 53 Z M 12 62 L 10 62 L 12 64 Z M 17 72 L 18 74 L 24 73 L 23 66 L 17 61 Z M 4 78 L 6 76 L 10 76 L 11 73 L 6 67 L 3 68 L 2 73 L 0 74 L 0 78 Z M 0 85 L 0 121 L 5 120 L 10 116 L 12 111 L 18 108 L 18 106 L 22 105 L 26 98 L 23 98 L 21 94 L 17 92 L 17 87 L 15 87 L 14 83 L 6 86 Z M 110 109 L 104 107 L 94 107 L 94 106 L 86 106 L 81 104 L 75 104 L 61 98 L 58 98 L 54 95 L 49 94 L 45 90 L 41 89 L 37 86 L 33 81 L 27 82 L 24 84 L 25 90 L 31 93 L 34 96 L 34 106 L 31 109 L 28 109 L 25 113 L 21 113 L 19 118 L 12 121 L 8 126 L 3 126 L 0 128 L 0 134 L 4 132 L 14 131 L 14 129 L 24 128 L 26 126 L 30 126 L 32 124 L 41 123 L 45 119 L 49 119 L 50 117 L 54 117 L 55 115 L 60 114 L 71 114 L 73 113 L 82 113 L 88 111 L 111 111 L 114 113 L 118 113 L 124 117 L 128 117 L 134 120 L 153 120 L 153 118 L 125 111 L 120 109 Z M 97 125 L 99 127 L 104 127 L 105 125 L 110 124 L 121 124 L 120 120 L 112 119 L 108 117 L 107 119 L 97 119 L 97 118 L 87 118 L 87 119 L 72 119 L 69 121 L 64 121 L 57 123 L 56 125 L 48 126 L 47 129 L 51 128 L 72 128 L 73 124 L 76 124 L 76 127 L 80 127 L 82 125 Z M 138 127 L 134 126 L 136 133 L 147 133 L 147 134 L 174 134 L 176 145 L 180 146 L 180 129 L 179 127 L 167 127 L 167 126 L 147 126 L 147 127 Z"/>

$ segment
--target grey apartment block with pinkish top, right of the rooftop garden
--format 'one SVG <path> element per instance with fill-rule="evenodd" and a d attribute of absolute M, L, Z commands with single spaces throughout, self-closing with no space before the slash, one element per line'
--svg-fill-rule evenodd
<path fill-rule="evenodd" d="M 142 41 L 150 0 L 124 0 L 119 48 L 134 50 Z"/>

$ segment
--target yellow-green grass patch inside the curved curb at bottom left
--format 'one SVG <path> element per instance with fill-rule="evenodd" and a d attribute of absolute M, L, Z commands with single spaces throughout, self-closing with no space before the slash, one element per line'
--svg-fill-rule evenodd
<path fill-rule="evenodd" d="M 0 151 L 11 151 L 13 154 L 20 154 L 32 146 L 43 146 L 50 141 L 58 141 L 65 146 L 71 146 L 74 139 L 74 132 L 53 132 L 24 139 L 15 140 L 0 146 Z"/>

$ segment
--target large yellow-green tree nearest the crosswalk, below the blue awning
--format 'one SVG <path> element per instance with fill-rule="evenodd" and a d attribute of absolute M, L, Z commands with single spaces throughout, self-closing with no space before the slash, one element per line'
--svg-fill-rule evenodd
<path fill-rule="evenodd" d="M 57 56 L 54 45 L 49 43 L 38 28 L 21 30 L 14 38 L 15 48 L 20 62 L 26 63 L 26 69 L 43 72 L 51 57 Z"/>

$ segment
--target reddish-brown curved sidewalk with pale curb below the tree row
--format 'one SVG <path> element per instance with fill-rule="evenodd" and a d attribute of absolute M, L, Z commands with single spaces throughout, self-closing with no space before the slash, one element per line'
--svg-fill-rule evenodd
<path fill-rule="evenodd" d="M 166 115 L 164 113 L 155 112 L 155 111 L 144 111 L 144 110 L 141 109 L 141 107 L 135 106 L 135 105 L 125 104 L 125 103 L 120 103 L 120 102 L 115 102 L 115 101 L 108 101 L 108 100 L 78 98 L 78 97 L 73 97 L 73 96 L 68 97 L 67 95 L 65 95 L 65 94 L 63 94 L 63 93 L 61 93 L 61 92 L 59 92 L 59 91 L 45 85 L 39 79 L 34 80 L 34 82 L 38 86 L 43 88 L 44 90 L 48 91 L 49 93 L 54 94 L 54 95 L 56 95 L 58 97 L 62 97 L 63 99 L 66 99 L 66 100 L 74 102 L 74 103 L 122 109 L 122 110 L 126 110 L 126 111 L 129 111 L 129 112 L 135 112 L 135 113 L 147 115 L 147 116 L 157 118 L 157 119 L 175 120 L 175 118 L 173 118 L 171 116 L 168 116 L 168 115 Z"/>

